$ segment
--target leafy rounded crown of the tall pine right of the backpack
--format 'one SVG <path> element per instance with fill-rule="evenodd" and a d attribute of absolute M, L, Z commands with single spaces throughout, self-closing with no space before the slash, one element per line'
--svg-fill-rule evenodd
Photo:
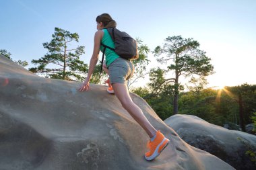
<path fill-rule="evenodd" d="M 214 73 L 214 67 L 210 64 L 211 59 L 205 56 L 204 51 L 199 50 L 199 43 L 193 38 L 168 37 L 164 46 L 162 48 L 158 46 L 154 52 L 160 63 L 172 60 L 167 71 L 177 71 L 178 76 L 207 76 Z"/>

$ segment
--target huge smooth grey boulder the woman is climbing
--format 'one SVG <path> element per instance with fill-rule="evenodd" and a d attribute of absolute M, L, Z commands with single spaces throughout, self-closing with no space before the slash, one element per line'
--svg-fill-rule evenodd
<path fill-rule="evenodd" d="M 1 169 L 234 169 L 190 146 L 131 93 L 170 144 L 146 161 L 148 136 L 102 85 L 38 77 L 0 56 Z"/>

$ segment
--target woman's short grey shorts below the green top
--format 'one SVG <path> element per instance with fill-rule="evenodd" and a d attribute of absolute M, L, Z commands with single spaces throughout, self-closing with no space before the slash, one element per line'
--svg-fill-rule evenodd
<path fill-rule="evenodd" d="M 125 84 L 131 78 L 134 72 L 134 67 L 131 61 L 121 57 L 115 59 L 108 66 L 108 74 L 111 83 Z"/>

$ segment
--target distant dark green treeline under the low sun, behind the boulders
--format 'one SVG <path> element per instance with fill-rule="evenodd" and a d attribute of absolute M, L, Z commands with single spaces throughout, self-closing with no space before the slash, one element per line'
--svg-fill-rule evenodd
<path fill-rule="evenodd" d="M 141 87 L 133 92 L 143 97 L 162 120 L 173 115 L 173 95 L 153 95 L 149 89 Z M 246 124 L 253 123 L 251 118 L 256 112 L 256 85 L 245 83 L 224 89 L 183 92 L 179 94 L 178 103 L 179 114 L 198 116 L 219 126 L 228 124 L 233 129 L 240 126 L 245 130 Z"/>

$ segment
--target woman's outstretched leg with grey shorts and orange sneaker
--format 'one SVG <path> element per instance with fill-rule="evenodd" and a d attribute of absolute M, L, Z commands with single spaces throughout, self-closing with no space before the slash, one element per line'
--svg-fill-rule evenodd
<path fill-rule="evenodd" d="M 136 120 L 136 122 L 147 132 L 150 136 L 150 142 L 148 142 L 149 151 L 145 153 L 146 160 L 151 161 L 158 157 L 162 150 L 167 146 L 168 138 L 165 138 L 160 130 L 156 129 L 148 122 L 148 119 L 142 113 L 141 109 L 133 103 L 125 80 L 129 79 L 133 75 L 133 65 L 125 59 L 117 58 L 109 67 L 110 79 L 113 82 L 113 89 L 119 101 L 123 105 L 123 108 L 129 112 L 129 114 Z"/>

